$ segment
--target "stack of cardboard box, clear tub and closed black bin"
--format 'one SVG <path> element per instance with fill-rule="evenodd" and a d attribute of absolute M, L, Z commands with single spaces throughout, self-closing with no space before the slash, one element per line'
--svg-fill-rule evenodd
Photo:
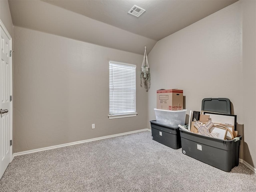
<path fill-rule="evenodd" d="M 150 121 L 152 139 L 173 149 L 181 148 L 178 125 L 185 124 L 183 90 L 157 90 L 156 120 Z"/>

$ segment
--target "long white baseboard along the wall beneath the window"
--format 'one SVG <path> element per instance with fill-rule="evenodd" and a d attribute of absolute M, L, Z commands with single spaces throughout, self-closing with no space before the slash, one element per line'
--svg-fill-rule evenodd
<path fill-rule="evenodd" d="M 25 155 L 25 154 L 35 153 L 35 152 L 39 152 L 39 151 L 50 150 L 50 149 L 55 149 L 55 148 L 60 148 L 60 147 L 65 147 L 65 146 L 70 146 L 70 145 L 76 145 L 76 144 L 86 143 L 86 142 L 91 142 L 91 141 L 96 141 L 96 140 L 102 140 L 102 139 L 112 138 L 112 137 L 117 137 L 117 136 L 122 136 L 122 135 L 128 135 L 128 134 L 138 133 L 138 132 L 148 131 L 148 130 L 149 129 L 140 129 L 140 130 L 136 130 L 136 131 L 130 131 L 130 132 L 119 133 L 119 134 L 114 134 L 114 135 L 109 135 L 109 136 L 103 136 L 103 137 L 98 137 L 98 138 L 93 138 L 93 139 L 87 139 L 87 140 L 82 140 L 82 141 L 54 145 L 54 146 L 50 146 L 50 147 L 44 147 L 44 148 L 39 148 L 39 149 L 17 152 L 12 155 L 12 159 L 15 156 L 19 156 L 19 155 Z"/>

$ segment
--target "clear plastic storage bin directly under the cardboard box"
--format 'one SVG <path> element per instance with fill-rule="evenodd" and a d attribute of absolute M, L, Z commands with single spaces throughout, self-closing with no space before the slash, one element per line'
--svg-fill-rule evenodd
<path fill-rule="evenodd" d="M 179 111 L 154 109 L 156 114 L 156 122 L 171 126 L 178 127 L 178 125 L 184 125 L 186 119 L 186 109 Z"/>

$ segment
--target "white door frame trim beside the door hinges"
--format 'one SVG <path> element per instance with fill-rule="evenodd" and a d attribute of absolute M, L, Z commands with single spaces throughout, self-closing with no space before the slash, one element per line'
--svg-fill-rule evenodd
<path fill-rule="evenodd" d="M 2 22 L 1 19 L 0 19 L 0 27 L 4 30 L 5 34 L 7 35 L 8 39 L 10 40 L 10 50 L 12 50 L 12 36 L 10 35 L 8 30 L 4 26 L 4 23 Z M 10 52 L 8 54 L 10 54 Z M 10 74 L 9 74 L 10 75 L 10 85 L 9 85 L 10 87 L 9 87 L 9 90 L 10 90 L 10 96 L 11 96 L 12 95 L 12 56 L 10 57 L 9 64 L 10 64 Z M 13 102 L 13 96 L 12 96 L 12 101 L 10 101 L 10 111 L 9 111 L 9 114 L 10 114 L 10 126 L 9 126 L 10 138 L 9 138 L 9 140 L 12 140 L 12 115 L 13 115 L 12 102 Z M 13 140 L 12 140 L 12 146 L 13 146 Z M 12 162 L 12 159 L 13 159 L 12 146 L 9 146 L 10 147 L 10 162 Z"/>

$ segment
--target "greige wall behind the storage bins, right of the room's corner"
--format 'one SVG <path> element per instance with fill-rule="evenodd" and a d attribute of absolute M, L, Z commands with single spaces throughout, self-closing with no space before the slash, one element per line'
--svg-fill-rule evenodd
<path fill-rule="evenodd" d="M 203 98 L 229 98 L 245 142 L 240 158 L 254 167 L 255 19 L 255 1 L 239 1 L 158 41 L 148 56 L 148 120 L 161 88 L 183 89 L 187 114 L 200 111 Z"/>

